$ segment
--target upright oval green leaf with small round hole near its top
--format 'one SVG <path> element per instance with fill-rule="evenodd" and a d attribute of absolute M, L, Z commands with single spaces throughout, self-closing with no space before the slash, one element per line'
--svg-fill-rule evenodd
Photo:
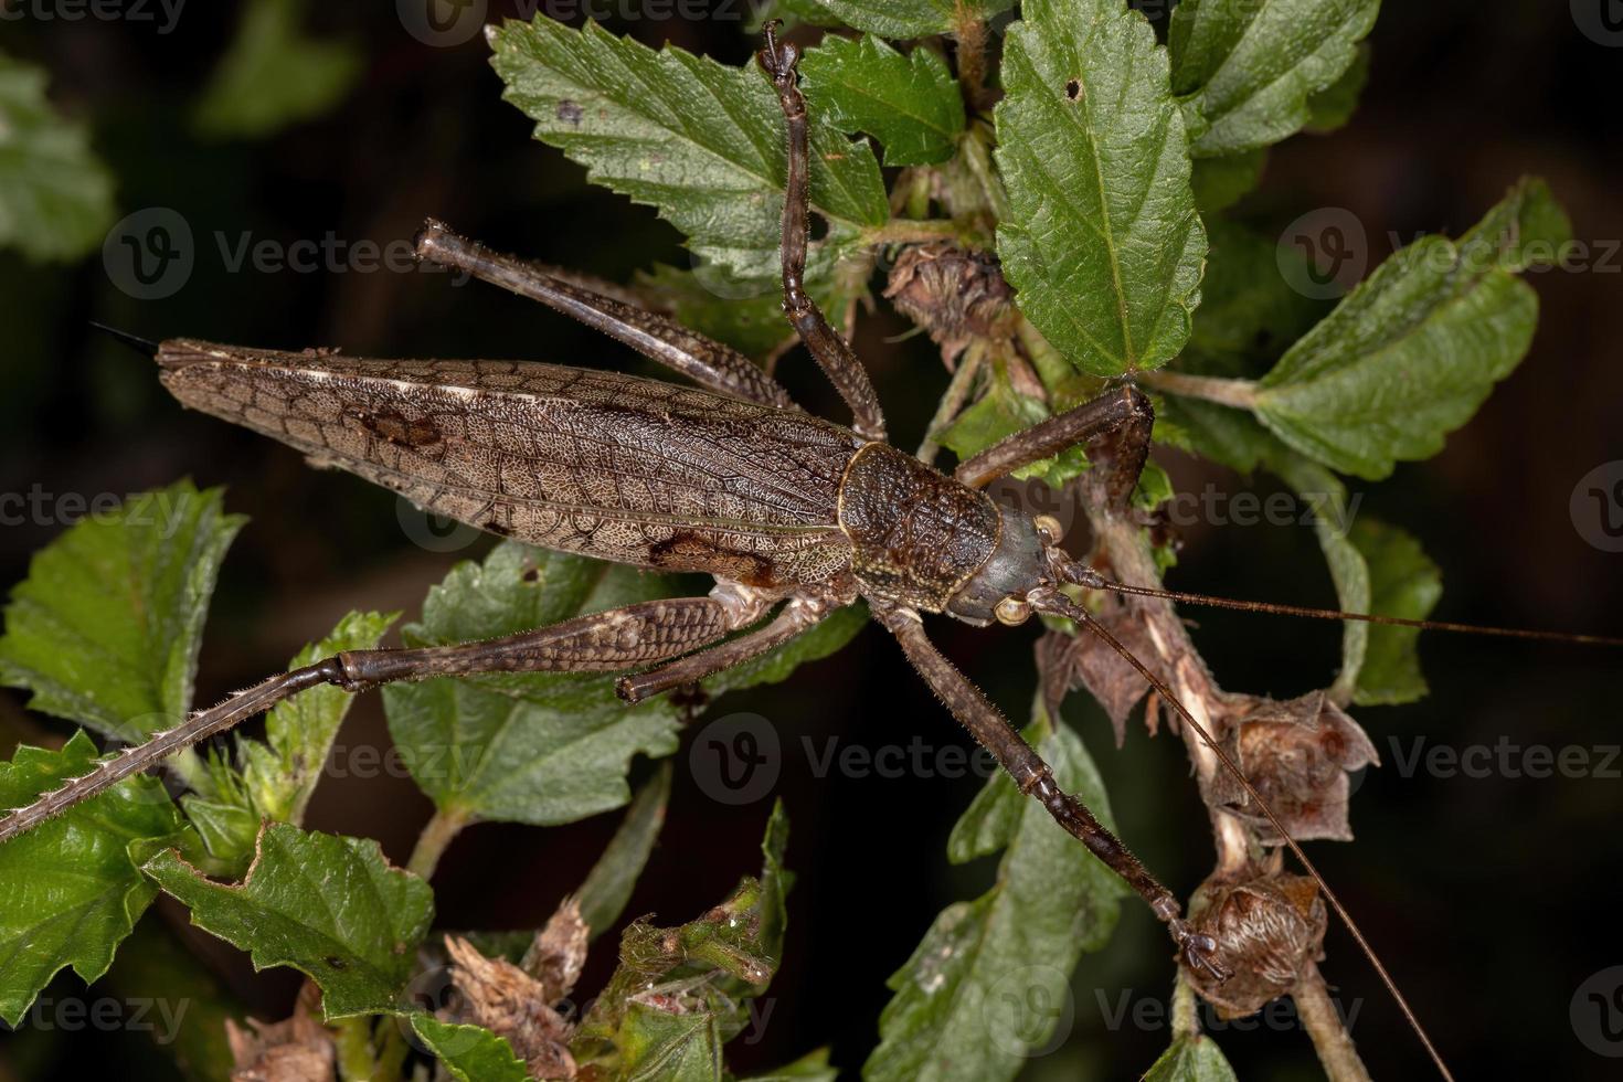
<path fill-rule="evenodd" d="M 1021 311 L 1078 368 L 1157 368 L 1190 337 L 1206 232 L 1167 54 L 1120 0 L 1031 0 L 1008 31 L 998 255 Z"/>

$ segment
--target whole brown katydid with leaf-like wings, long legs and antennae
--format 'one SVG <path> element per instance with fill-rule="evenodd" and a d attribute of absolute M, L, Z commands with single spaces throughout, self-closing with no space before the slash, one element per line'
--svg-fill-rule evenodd
<path fill-rule="evenodd" d="M 779 44 L 768 29 L 760 60 L 789 128 L 784 310 L 850 407 L 849 428 L 800 412 L 782 386 L 742 354 L 664 316 L 490 253 L 433 222 L 417 238 L 419 258 L 566 311 L 708 389 L 539 363 L 364 360 L 188 339 L 156 347 L 164 384 L 187 406 L 255 428 L 479 529 L 643 568 L 709 573 L 717 581 L 709 595 L 644 602 L 487 642 L 344 652 L 271 676 L 11 813 L 0 821 L 0 842 L 315 685 L 362 691 L 477 672 L 631 672 L 618 691 L 635 702 L 763 654 L 862 597 L 1019 788 L 1151 905 L 1183 964 L 1222 980 L 1230 962 L 1216 939 L 1193 930 L 1172 892 L 1058 788 L 1048 766 L 998 709 L 936 652 L 920 621 L 920 613 L 945 613 L 977 626 L 1018 625 L 1045 613 L 1076 621 L 1139 670 L 1243 787 L 1381 968 L 1224 746 L 1063 587 L 1229 602 L 1112 582 L 1060 547 L 1055 522 L 1000 508 L 982 492 L 1060 449 L 1109 440 L 1113 454 L 1100 462 L 1110 472 L 1104 490 L 1109 500 L 1125 501 L 1149 448 L 1149 401 L 1125 386 L 964 461 L 951 477 L 885 441 L 883 414 L 860 360 L 802 284 L 808 151 L 797 58 L 795 47 Z M 1381 978 L 1402 1004 L 1384 970 Z M 1404 1012 L 1414 1020 L 1407 1006 Z M 1415 1028 L 1436 1058 L 1419 1024 Z"/>

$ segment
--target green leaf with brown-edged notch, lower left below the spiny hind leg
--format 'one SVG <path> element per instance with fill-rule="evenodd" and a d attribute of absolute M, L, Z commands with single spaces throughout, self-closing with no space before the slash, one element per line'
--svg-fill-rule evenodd
<path fill-rule="evenodd" d="M 247 951 L 256 970 L 289 965 L 321 988 L 331 1022 L 399 1014 L 399 993 L 433 918 L 428 884 L 393 868 L 370 839 L 266 824 L 248 878 L 204 879 L 180 853 L 143 865 L 192 908 L 192 923 Z"/>

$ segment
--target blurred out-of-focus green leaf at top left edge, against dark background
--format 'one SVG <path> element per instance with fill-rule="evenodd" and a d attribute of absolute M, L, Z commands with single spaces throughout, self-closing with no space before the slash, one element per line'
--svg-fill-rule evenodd
<path fill-rule="evenodd" d="M 263 138 L 320 117 L 349 94 L 365 57 L 300 26 L 308 0 L 253 0 L 193 114 L 209 136 Z"/>

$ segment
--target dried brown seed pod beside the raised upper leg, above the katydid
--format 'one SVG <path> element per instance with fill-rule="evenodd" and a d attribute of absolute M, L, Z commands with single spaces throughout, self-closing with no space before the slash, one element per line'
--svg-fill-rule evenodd
<path fill-rule="evenodd" d="M 1014 290 L 990 253 L 946 242 L 912 245 L 891 268 L 885 297 L 930 334 L 948 365 L 969 339 L 1010 334 Z"/>

